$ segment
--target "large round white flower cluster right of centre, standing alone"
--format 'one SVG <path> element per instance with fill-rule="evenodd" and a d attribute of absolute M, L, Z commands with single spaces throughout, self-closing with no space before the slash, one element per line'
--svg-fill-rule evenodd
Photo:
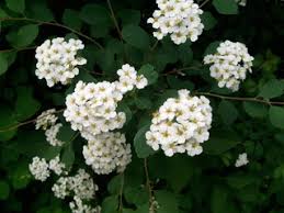
<path fill-rule="evenodd" d="M 179 98 L 168 99 L 155 113 L 147 144 L 160 147 L 167 156 L 185 153 L 195 156 L 203 152 L 201 144 L 208 139 L 212 108 L 205 97 L 191 97 L 190 91 L 179 90 Z"/>

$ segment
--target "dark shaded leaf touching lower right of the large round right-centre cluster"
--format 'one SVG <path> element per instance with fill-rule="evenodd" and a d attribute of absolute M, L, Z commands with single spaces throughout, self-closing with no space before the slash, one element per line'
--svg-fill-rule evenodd
<path fill-rule="evenodd" d="M 238 144 L 241 139 L 238 134 L 232 131 L 223 130 L 218 132 L 212 132 L 211 137 L 207 142 L 204 142 L 203 148 L 204 153 L 209 155 L 220 155 Z"/>

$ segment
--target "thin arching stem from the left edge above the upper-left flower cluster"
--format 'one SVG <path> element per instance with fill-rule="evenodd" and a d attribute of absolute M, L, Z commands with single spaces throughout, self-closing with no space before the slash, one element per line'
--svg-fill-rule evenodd
<path fill-rule="evenodd" d="M 34 23 L 38 23 L 38 24 L 45 24 L 45 25 L 53 25 L 53 26 L 58 26 L 58 27 L 61 27 L 61 29 L 66 29 L 81 37 L 84 37 L 86 40 L 89 40 L 90 42 L 94 43 L 99 48 L 103 49 L 103 46 L 101 44 L 99 44 L 98 42 L 95 42 L 93 38 L 91 38 L 90 36 L 75 30 L 75 29 L 71 29 L 69 26 L 66 26 L 64 24 L 59 24 L 59 23 L 56 23 L 56 22 L 45 22 L 45 21 L 41 21 L 41 20 L 35 20 L 35 19 L 30 19 L 30 18 L 2 18 L 0 19 L 0 21 L 29 21 L 29 22 L 34 22 Z"/>

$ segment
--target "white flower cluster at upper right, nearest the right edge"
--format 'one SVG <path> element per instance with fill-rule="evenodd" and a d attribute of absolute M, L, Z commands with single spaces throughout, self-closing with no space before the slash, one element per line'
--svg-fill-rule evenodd
<path fill-rule="evenodd" d="M 239 90 L 247 71 L 251 72 L 253 57 L 249 55 L 245 44 L 226 41 L 220 43 L 217 53 L 204 57 L 204 64 L 211 66 L 211 76 L 218 81 L 218 87 Z"/>

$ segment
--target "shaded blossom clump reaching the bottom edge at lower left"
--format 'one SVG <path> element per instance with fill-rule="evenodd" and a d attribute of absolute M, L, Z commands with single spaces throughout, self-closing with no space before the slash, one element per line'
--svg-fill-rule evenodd
<path fill-rule="evenodd" d="M 77 175 L 60 177 L 53 186 L 55 197 L 65 199 L 73 197 L 73 201 L 69 202 L 72 213 L 100 213 L 101 208 L 92 208 L 84 204 L 83 201 L 89 201 L 94 198 L 98 186 L 93 182 L 91 176 L 83 169 L 79 169 Z"/>

